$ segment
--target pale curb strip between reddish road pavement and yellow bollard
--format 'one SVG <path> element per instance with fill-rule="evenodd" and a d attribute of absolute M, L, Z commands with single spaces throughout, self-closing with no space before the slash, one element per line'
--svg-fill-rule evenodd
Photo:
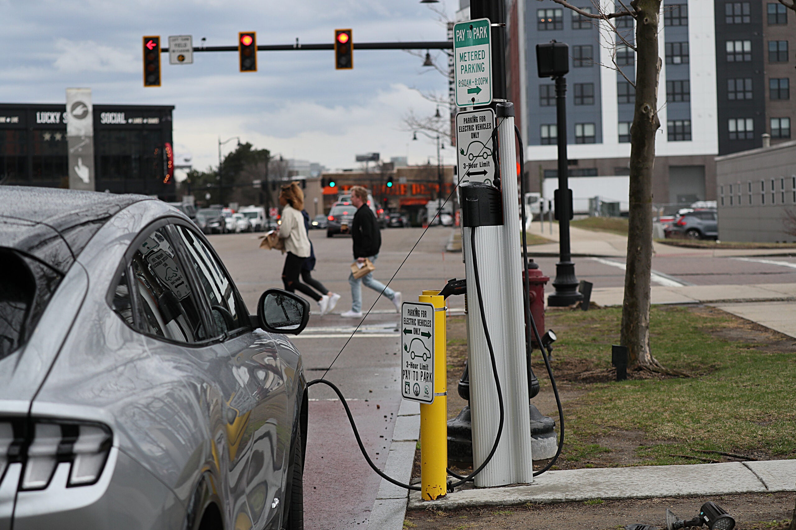
<path fill-rule="evenodd" d="M 402 400 L 398 409 L 392 443 L 384 464 L 384 473 L 408 484 L 412 478 L 415 448 L 420 435 L 420 405 Z M 368 528 L 371 530 L 402 530 L 406 514 L 407 490 L 381 479 L 376 501 L 370 511 Z"/>

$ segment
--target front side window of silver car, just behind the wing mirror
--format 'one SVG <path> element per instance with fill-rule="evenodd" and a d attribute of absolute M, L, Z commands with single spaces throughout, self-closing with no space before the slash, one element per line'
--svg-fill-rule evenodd
<path fill-rule="evenodd" d="M 240 310 L 236 301 L 235 284 L 224 272 L 224 268 L 193 230 L 181 225 L 175 228 L 188 253 L 188 260 L 205 289 L 218 329 L 229 333 L 247 327 L 248 313 Z"/>

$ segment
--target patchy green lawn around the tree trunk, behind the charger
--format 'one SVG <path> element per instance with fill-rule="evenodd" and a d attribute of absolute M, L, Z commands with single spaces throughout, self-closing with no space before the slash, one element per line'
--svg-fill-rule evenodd
<path fill-rule="evenodd" d="M 566 422 L 554 469 L 735 460 L 700 450 L 796 458 L 796 339 L 714 308 L 654 306 L 654 356 L 693 377 L 630 373 L 616 382 L 611 344 L 618 344 L 621 317 L 620 308 L 545 317 L 558 335 L 552 366 Z M 450 320 L 449 417 L 465 404 L 455 381 L 466 358 L 463 319 Z M 533 367 L 543 387 L 533 403 L 556 419 L 538 352 Z"/>

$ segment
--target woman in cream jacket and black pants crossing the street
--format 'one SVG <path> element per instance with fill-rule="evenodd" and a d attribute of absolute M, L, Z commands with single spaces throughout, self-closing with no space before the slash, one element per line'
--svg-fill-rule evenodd
<path fill-rule="evenodd" d="M 318 295 L 311 288 L 298 281 L 302 273 L 304 262 L 310 257 L 312 251 L 310 238 L 307 237 L 304 227 L 304 218 L 301 211 L 304 209 L 304 193 L 298 184 L 291 182 L 282 187 L 279 193 L 279 205 L 282 206 L 282 224 L 279 226 L 279 237 L 285 241 L 285 266 L 282 269 L 282 283 L 286 291 L 295 292 L 296 289 L 318 302 L 321 315 L 329 307 L 329 296 Z"/>

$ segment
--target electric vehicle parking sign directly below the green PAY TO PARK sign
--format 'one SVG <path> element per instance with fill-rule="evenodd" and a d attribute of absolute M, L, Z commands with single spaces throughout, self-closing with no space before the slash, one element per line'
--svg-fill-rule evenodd
<path fill-rule="evenodd" d="M 492 156 L 494 128 L 495 111 L 492 109 L 456 114 L 458 184 L 494 183 L 495 166 Z"/>

